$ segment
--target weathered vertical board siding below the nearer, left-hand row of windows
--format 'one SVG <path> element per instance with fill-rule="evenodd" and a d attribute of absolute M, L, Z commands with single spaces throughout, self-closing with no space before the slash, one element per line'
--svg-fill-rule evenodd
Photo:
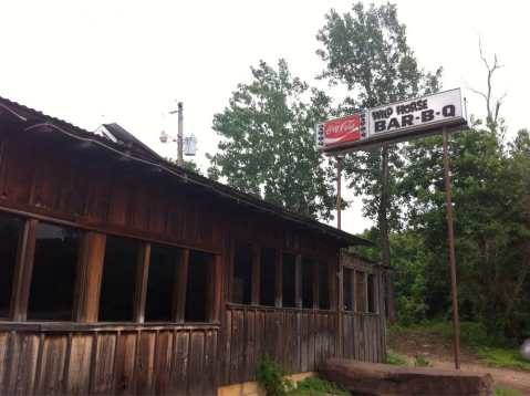
<path fill-rule="evenodd" d="M 0 331 L 1 395 L 215 395 L 218 330 Z"/>

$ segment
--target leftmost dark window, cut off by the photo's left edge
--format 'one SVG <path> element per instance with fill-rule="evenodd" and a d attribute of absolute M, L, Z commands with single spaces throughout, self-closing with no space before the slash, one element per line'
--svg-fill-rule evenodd
<path fill-rule="evenodd" d="M 0 213 L 0 317 L 9 315 L 17 249 L 22 228 L 22 219 Z"/>

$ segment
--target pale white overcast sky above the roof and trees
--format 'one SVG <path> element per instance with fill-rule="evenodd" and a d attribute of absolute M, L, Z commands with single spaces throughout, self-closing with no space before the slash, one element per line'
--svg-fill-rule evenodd
<path fill-rule="evenodd" d="M 375 3 L 381 3 L 376 1 Z M 484 115 L 485 53 L 505 67 L 495 86 L 507 93 L 502 115 L 508 136 L 529 126 L 529 1 L 397 1 L 399 20 L 419 64 L 444 67 L 444 87 L 461 86 L 469 113 Z M 64 118 L 86 129 L 117 122 L 166 157 L 162 129 L 176 132 L 168 111 L 184 102 L 185 133 L 199 140 L 197 161 L 216 149 L 212 115 L 221 112 L 249 66 L 285 58 L 293 74 L 313 83 L 323 64 L 315 55 L 318 30 L 334 8 L 351 1 L 4 1 L 0 96 Z M 360 232 L 371 222 L 360 202 L 343 228 Z"/>

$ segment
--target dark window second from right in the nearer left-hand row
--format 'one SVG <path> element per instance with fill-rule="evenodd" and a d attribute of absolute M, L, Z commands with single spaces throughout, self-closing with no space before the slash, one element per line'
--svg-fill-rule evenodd
<path fill-rule="evenodd" d="M 170 322 L 175 316 L 175 293 L 177 268 L 183 251 L 178 248 L 152 244 L 147 296 L 145 302 L 146 322 Z"/>

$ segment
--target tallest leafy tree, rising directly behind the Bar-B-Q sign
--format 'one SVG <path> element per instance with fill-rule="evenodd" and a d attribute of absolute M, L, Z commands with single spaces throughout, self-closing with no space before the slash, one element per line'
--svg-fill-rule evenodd
<path fill-rule="evenodd" d="M 365 9 L 356 2 L 352 13 L 340 15 L 331 10 L 325 18 L 326 23 L 316 35 L 322 44 L 316 53 L 325 62 L 320 77 L 330 84 L 343 84 L 349 92 L 336 114 L 438 91 L 441 69 L 430 74 L 418 67 L 395 6 L 372 4 Z M 366 197 L 365 216 L 376 220 L 382 261 L 386 265 L 391 262 L 388 233 L 391 228 L 397 228 L 401 216 L 394 192 L 402 165 L 395 146 L 388 145 L 349 154 L 344 164 L 350 187 Z M 388 311 L 392 317 L 392 306 Z"/>

